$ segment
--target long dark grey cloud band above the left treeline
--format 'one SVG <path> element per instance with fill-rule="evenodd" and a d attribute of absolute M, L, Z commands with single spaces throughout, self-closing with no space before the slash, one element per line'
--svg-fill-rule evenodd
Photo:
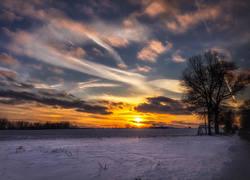
<path fill-rule="evenodd" d="M 10 100 L 1 100 L 1 103 L 4 104 L 15 104 L 14 102 L 38 102 L 45 105 L 61 107 L 65 109 L 76 109 L 79 112 L 93 113 L 93 114 L 112 114 L 108 111 L 108 108 L 105 106 L 99 105 L 89 105 L 83 100 L 72 100 L 72 99 L 57 99 L 57 98 L 48 98 L 42 97 L 35 93 L 25 92 L 25 91 L 13 91 L 13 90 L 1 90 L 0 97 L 10 98 Z"/>

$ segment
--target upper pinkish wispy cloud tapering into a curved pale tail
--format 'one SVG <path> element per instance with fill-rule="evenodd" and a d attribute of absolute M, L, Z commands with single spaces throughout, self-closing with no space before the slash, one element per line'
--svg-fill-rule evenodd
<path fill-rule="evenodd" d="M 114 48 L 101 39 L 101 34 L 99 34 L 98 31 L 93 28 L 89 28 L 84 24 L 71 20 L 62 11 L 58 9 L 36 9 L 34 6 L 32 6 L 32 4 L 28 4 L 27 2 L 21 3 L 18 1 L 5 3 L 5 6 L 12 9 L 13 11 L 17 11 L 20 14 L 29 16 L 30 18 L 36 18 L 40 21 L 43 21 L 45 24 L 47 24 L 47 27 L 54 35 L 57 35 L 60 38 L 64 37 L 64 40 L 67 42 L 69 39 L 72 39 L 72 36 L 75 37 L 74 39 L 77 38 L 77 41 L 80 42 L 81 39 L 84 41 L 86 37 L 91 39 L 93 42 L 107 50 L 109 54 L 117 61 L 119 67 L 126 68 L 126 64 L 120 55 L 114 50 Z M 71 42 L 73 42 L 73 40 Z"/>

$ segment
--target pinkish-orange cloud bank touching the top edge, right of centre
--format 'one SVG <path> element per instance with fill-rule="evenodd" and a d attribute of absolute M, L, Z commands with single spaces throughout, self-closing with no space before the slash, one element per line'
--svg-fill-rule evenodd
<path fill-rule="evenodd" d="M 159 17 L 167 29 L 173 33 L 184 33 L 200 23 L 204 23 L 207 30 L 210 31 L 206 21 L 220 17 L 222 11 L 220 6 L 192 3 L 193 6 L 197 7 L 197 11 L 183 12 L 181 11 L 181 3 L 177 1 L 142 1 L 144 10 L 138 16 L 146 14 L 152 18 Z"/>

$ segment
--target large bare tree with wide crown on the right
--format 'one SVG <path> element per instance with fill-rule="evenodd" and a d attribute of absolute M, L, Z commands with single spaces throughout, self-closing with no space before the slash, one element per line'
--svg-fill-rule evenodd
<path fill-rule="evenodd" d="M 245 88 L 245 74 L 236 74 L 238 67 L 227 61 L 217 51 L 207 51 L 204 55 L 189 58 L 188 67 L 182 73 L 185 87 L 182 101 L 196 109 L 205 107 L 208 116 L 208 134 L 211 122 L 215 133 L 219 133 L 219 108 L 221 102 L 234 98 Z"/>

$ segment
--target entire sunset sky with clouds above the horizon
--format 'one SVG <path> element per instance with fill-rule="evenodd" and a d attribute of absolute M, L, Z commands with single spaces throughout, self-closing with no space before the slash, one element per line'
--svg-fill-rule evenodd
<path fill-rule="evenodd" d="M 247 0 L 0 1 L 0 116 L 79 127 L 197 127 L 187 60 L 209 49 L 250 74 Z M 250 97 L 236 96 L 235 106 Z"/>

